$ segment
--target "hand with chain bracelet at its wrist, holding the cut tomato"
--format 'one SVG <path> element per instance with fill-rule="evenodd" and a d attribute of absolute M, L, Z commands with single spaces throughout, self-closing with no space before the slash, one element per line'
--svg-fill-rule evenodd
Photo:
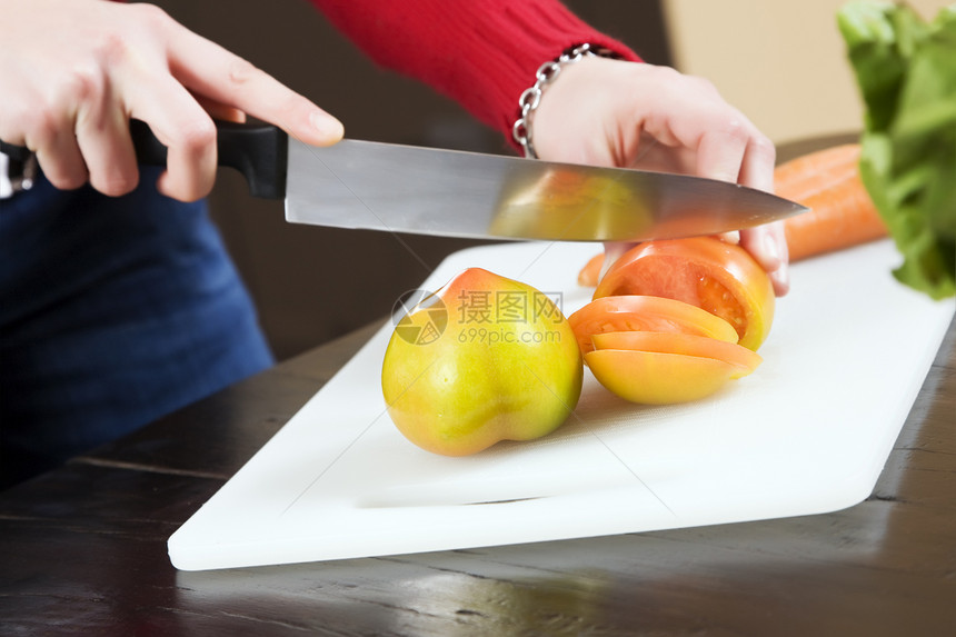
<path fill-rule="evenodd" d="M 774 190 L 773 142 L 707 80 L 668 67 L 584 58 L 562 68 L 535 115 L 541 159 L 697 175 Z M 741 230 L 777 296 L 789 288 L 781 222 Z M 606 267 L 628 247 L 606 246 Z"/>

